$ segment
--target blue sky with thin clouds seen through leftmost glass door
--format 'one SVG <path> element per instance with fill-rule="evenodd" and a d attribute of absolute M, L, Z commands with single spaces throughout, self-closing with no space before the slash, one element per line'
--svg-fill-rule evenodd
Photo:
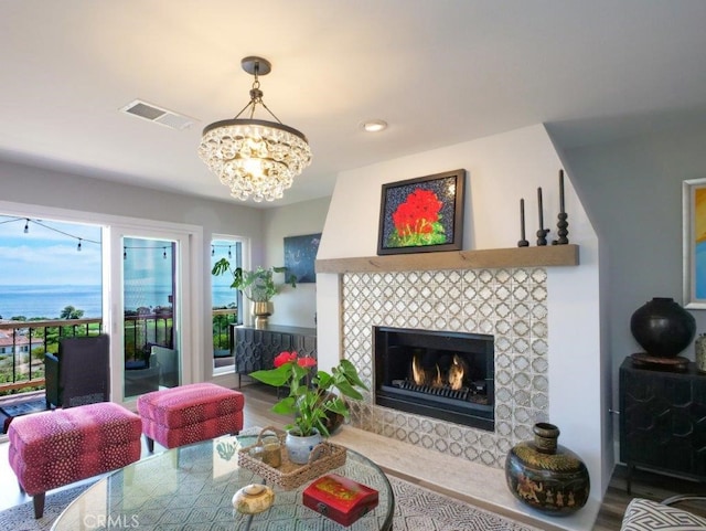
<path fill-rule="evenodd" d="M 29 220 L 0 215 L 0 285 L 100 284 L 100 226 Z"/>

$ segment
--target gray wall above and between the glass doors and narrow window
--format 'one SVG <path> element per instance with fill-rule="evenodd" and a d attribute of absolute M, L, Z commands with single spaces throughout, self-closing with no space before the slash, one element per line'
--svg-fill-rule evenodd
<path fill-rule="evenodd" d="M 200 293 L 204 294 L 201 301 L 204 308 L 211 307 L 211 272 L 207 264 L 212 234 L 249 237 L 254 264 L 281 265 L 282 237 L 321 232 L 329 204 L 329 200 L 324 199 L 282 208 L 281 212 L 279 209 L 268 211 L 233 203 L 227 199 L 212 201 L 7 161 L 0 161 L 0 201 L 203 227 L 202 257 L 206 266 L 199 282 L 202 286 Z M 270 240 L 270 244 L 267 244 Z M 279 249 L 280 254 L 277 255 L 275 249 Z M 280 320 L 280 323 L 313 326 L 313 286 L 307 285 L 288 294 L 288 307 L 304 310 L 282 311 L 277 317 L 286 319 L 289 316 L 293 321 Z M 210 315 L 204 315 L 202 326 L 203 374 L 208 379 L 212 364 Z"/>

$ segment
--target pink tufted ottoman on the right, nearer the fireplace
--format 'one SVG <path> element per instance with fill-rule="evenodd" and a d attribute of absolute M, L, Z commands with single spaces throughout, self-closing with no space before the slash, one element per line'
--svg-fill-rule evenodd
<path fill-rule="evenodd" d="M 154 449 L 154 440 L 174 448 L 237 434 L 243 428 L 244 405 L 243 393 L 213 383 L 153 391 L 137 400 L 150 452 Z"/>

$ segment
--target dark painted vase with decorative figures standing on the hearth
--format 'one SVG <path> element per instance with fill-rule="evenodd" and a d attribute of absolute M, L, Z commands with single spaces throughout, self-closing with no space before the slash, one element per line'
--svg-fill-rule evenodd
<path fill-rule="evenodd" d="M 576 512 L 590 492 L 588 469 L 571 450 L 557 445 L 554 424 L 534 425 L 534 440 L 515 445 L 505 459 L 510 491 L 523 503 L 548 514 Z"/>

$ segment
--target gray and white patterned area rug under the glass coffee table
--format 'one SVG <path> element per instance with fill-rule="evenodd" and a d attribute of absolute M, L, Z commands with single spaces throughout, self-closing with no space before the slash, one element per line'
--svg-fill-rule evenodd
<path fill-rule="evenodd" d="M 393 531 L 539 531 L 394 476 L 389 476 L 389 482 L 395 492 Z M 0 529 L 49 530 L 64 508 L 88 486 L 47 495 L 44 516 L 39 520 L 34 519 L 31 501 L 2 511 Z"/>

